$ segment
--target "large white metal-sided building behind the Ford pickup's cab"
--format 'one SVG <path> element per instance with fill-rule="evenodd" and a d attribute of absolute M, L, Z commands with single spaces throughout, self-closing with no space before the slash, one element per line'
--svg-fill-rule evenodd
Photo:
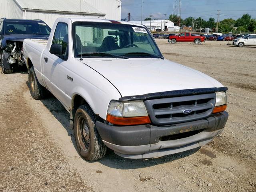
<path fill-rule="evenodd" d="M 121 20 L 121 0 L 82 0 L 82 17 Z M 80 17 L 80 0 L 0 0 L 0 18 L 41 19 L 50 27 L 59 17 Z"/>

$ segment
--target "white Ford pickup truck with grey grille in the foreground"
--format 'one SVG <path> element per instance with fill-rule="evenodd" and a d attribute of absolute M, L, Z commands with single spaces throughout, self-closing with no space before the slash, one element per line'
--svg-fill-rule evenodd
<path fill-rule="evenodd" d="M 26 39 L 23 49 L 31 96 L 49 90 L 62 103 L 86 160 L 107 147 L 124 158 L 198 148 L 228 119 L 228 89 L 165 59 L 143 25 L 58 18 L 48 41 Z"/>

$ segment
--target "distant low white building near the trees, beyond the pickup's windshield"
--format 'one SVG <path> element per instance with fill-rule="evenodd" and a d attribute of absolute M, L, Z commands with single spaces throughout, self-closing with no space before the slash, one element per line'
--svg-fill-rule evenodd
<path fill-rule="evenodd" d="M 131 21 L 133 23 L 138 23 L 140 24 L 141 21 Z M 160 29 L 160 30 L 166 30 L 166 31 L 173 31 L 171 30 L 171 28 L 174 28 L 174 29 L 180 29 L 179 26 L 174 26 L 174 23 L 171 22 L 170 20 L 165 20 L 165 23 L 164 23 L 164 20 L 151 20 L 151 29 L 150 29 L 150 21 L 142 21 L 142 25 L 145 25 L 149 30 L 151 31 L 156 31 L 157 29 Z"/>

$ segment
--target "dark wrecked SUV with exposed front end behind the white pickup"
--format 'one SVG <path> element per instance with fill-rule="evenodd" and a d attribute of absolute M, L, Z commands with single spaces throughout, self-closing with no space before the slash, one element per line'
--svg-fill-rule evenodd
<path fill-rule="evenodd" d="M 42 20 L 0 19 L 0 65 L 4 74 L 23 66 L 24 39 L 48 40 L 51 28 Z"/>

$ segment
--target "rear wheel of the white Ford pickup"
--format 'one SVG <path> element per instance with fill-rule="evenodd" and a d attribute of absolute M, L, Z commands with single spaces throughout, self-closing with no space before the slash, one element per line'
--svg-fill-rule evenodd
<path fill-rule="evenodd" d="M 28 84 L 29 84 L 30 94 L 32 98 L 36 100 L 45 98 L 47 94 L 47 90 L 38 82 L 36 73 L 34 71 L 34 67 L 31 67 L 29 70 Z"/>

